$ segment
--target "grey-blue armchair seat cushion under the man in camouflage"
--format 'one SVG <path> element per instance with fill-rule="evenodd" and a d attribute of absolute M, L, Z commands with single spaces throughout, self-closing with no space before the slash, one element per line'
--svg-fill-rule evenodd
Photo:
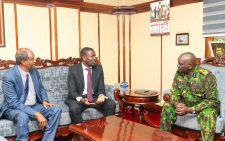
<path fill-rule="evenodd" d="M 177 116 L 175 124 L 189 129 L 200 130 L 196 114 Z M 218 116 L 216 121 L 216 133 L 221 134 L 223 132 L 224 132 L 224 119 Z"/>

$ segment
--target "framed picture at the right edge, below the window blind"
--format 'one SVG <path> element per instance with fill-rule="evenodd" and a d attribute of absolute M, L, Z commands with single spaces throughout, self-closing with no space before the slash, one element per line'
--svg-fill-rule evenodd
<path fill-rule="evenodd" d="M 225 57 L 225 41 L 211 41 L 209 42 L 209 48 L 211 57 Z"/>

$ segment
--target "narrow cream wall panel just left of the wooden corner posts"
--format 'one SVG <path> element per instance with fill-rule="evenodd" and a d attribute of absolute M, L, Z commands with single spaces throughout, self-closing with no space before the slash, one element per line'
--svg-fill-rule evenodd
<path fill-rule="evenodd" d="M 117 17 L 100 14 L 101 63 L 107 84 L 114 84 L 118 81 L 117 32 Z"/>

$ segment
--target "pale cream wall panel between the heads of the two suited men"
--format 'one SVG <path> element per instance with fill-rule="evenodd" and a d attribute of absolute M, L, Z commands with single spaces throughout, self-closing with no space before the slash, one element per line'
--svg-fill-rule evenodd
<path fill-rule="evenodd" d="M 57 8 L 59 58 L 79 57 L 78 10 Z"/>

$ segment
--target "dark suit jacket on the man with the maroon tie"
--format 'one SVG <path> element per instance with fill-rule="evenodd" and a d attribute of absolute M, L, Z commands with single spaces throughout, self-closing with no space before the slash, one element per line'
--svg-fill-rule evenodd
<path fill-rule="evenodd" d="M 94 65 L 92 67 L 92 88 L 93 98 L 97 98 L 100 94 L 105 95 L 104 73 L 101 65 Z M 84 74 L 82 64 L 76 64 L 69 68 L 68 73 L 68 90 L 69 95 L 65 102 L 70 103 L 71 100 L 76 100 L 84 91 Z"/>

